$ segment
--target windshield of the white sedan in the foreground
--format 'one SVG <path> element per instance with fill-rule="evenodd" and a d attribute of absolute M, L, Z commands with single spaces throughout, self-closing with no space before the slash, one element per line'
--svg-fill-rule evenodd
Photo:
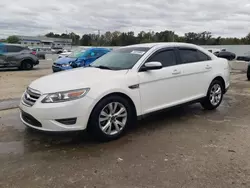
<path fill-rule="evenodd" d="M 149 48 L 119 48 L 95 60 L 91 66 L 107 67 L 112 70 L 131 69 Z"/>

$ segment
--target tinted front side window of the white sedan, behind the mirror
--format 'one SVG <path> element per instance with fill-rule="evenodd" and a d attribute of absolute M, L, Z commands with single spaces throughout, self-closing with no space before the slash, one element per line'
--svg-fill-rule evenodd
<path fill-rule="evenodd" d="M 173 50 L 166 50 L 166 51 L 159 52 L 153 55 L 151 58 L 149 58 L 147 62 L 149 61 L 161 62 L 163 67 L 176 65 L 175 53 Z"/>

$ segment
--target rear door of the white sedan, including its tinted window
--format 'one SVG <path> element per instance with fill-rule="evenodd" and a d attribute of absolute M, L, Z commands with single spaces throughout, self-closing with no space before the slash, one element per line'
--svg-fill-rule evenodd
<path fill-rule="evenodd" d="M 182 101 L 188 102 L 206 96 L 213 60 L 207 54 L 194 49 L 177 48 L 181 64 Z"/>

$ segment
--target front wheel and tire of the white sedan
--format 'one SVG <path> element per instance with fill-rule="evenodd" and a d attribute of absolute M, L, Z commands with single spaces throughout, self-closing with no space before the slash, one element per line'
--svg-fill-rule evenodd
<path fill-rule="evenodd" d="M 115 116 L 115 114 L 120 114 L 121 117 Z M 116 140 L 133 123 L 134 115 L 134 110 L 127 99 L 118 95 L 108 96 L 102 99 L 93 109 L 88 130 L 99 141 Z"/>

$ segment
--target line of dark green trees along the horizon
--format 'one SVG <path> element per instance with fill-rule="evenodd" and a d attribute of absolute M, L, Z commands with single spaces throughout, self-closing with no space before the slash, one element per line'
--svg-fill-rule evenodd
<path fill-rule="evenodd" d="M 145 32 L 141 31 L 137 35 L 134 32 L 107 31 L 104 34 L 84 34 L 82 36 L 71 33 L 47 33 L 45 36 L 53 38 L 72 39 L 72 45 L 81 46 L 124 46 L 146 42 L 187 42 L 197 45 L 243 45 L 250 44 L 250 33 L 243 38 L 237 37 L 214 37 L 211 32 L 200 33 L 188 32 L 184 36 L 179 36 L 173 31 Z M 17 38 L 10 36 L 6 42 L 16 43 Z"/>

